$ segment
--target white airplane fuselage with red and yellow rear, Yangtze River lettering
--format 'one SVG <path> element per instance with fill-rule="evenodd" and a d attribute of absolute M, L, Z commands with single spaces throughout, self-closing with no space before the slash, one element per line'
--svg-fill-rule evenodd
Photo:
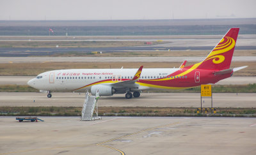
<path fill-rule="evenodd" d="M 36 78 L 29 80 L 28 84 L 45 91 L 84 91 L 93 85 L 108 85 L 130 80 L 136 71 L 137 69 L 53 70 L 41 73 Z M 186 89 L 201 84 L 214 84 L 231 76 L 230 74 L 216 76 L 213 70 L 193 70 L 182 75 L 186 71 L 188 71 L 186 68 L 145 68 L 136 82 L 138 87 L 133 87 L 128 91 Z"/>

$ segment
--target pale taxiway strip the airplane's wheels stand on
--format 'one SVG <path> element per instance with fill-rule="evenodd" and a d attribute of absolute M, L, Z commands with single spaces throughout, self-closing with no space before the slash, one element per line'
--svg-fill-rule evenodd
<path fill-rule="evenodd" d="M 256 108 L 255 93 L 213 93 L 213 107 Z M 34 102 L 35 100 L 35 102 Z M 83 107 L 84 92 L 53 92 L 47 98 L 41 92 L 0 92 L 0 106 L 10 107 Z M 200 107 L 200 93 L 141 93 L 140 98 L 125 99 L 124 94 L 102 96 L 99 107 Z M 211 107 L 211 98 L 203 98 L 203 107 Z"/>

